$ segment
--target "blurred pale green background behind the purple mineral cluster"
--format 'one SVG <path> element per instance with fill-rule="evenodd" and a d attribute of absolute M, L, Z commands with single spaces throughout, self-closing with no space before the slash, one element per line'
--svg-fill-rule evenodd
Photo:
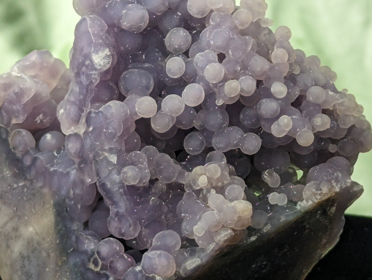
<path fill-rule="evenodd" d="M 238 0 L 239 1 L 239 0 Z M 238 2 L 237 1 L 237 2 Z M 294 48 L 317 55 L 337 73 L 336 86 L 347 88 L 372 120 L 372 1 L 266 0 L 272 29 L 292 30 Z M 68 64 L 79 16 L 66 0 L 0 1 L 0 73 L 34 49 L 48 49 Z M 372 155 L 360 154 L 352 179 L 365 187 L 347 213 L 372 216 Z"/>

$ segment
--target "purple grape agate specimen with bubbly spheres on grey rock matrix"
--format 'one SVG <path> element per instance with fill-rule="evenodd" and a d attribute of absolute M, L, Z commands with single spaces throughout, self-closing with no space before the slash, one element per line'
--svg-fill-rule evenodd
<path fill-rule="evenodd" d="M 3 280 L 303 279 L 371 125 L 264 0 L 74 0 L 0 76 Z"/>

